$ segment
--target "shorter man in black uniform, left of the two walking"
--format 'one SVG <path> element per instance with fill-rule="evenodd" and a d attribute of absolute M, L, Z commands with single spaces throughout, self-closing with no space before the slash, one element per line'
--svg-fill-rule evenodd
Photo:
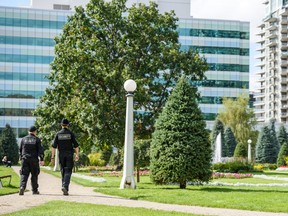
<path fill-rule="evenodd" d="M 28 135 L 23 137 L 19 147 L 21 159 L 21 180 L 19 195 L 24 195 L 29 174 L 31 173 L 32 194 L 39 194 L 38 191 L 38 175 L 40 173 L 40 164 L 44 165 L 44 150 L 41 140 L 36 136 L 37 128 L 31 126 L 28 130 Z"/>

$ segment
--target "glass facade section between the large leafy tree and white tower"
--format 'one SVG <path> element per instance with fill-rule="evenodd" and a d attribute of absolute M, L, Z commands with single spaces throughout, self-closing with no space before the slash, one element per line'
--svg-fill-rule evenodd
<path fill-rule="evenodd" d="M 224 97 L 249 94 L 249 23 L 229 20 L 182 19 L 179 21 L 182 49 L 193 48 L 209 64 L 207 80 L 192 82 L 201 98 L 199 106 L 208 127 Z"/>

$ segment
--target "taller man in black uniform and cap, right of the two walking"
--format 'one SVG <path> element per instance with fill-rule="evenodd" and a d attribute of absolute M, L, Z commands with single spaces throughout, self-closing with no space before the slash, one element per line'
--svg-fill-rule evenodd
<path fill-rule="evenodd" d="M 69 195 L 69 184 L 72 175 L 72 169 L 74 166 L 73 155 L 75 149 L 75 160 L 79 160 L 79 144 L 75 139 L 75 135 L 68 129 L 69 121 L 67 119 L 62 119 L 60 130 L 54 139 L 52 144 L 52 157 L 51 160 L 54 163 L 56 148 L 59 151 L 59 162 L 62 175 L 62 191 L 63 195 Z"/>

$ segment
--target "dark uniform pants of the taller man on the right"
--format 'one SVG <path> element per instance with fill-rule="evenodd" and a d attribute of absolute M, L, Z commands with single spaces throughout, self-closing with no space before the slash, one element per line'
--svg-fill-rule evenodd
<path fill-rule="evenodd" d="M 72 169 L 74 166 L 73 152 L 59 152 L 59 163 L 62 175 L 62 187 L 69 190 Z"/>

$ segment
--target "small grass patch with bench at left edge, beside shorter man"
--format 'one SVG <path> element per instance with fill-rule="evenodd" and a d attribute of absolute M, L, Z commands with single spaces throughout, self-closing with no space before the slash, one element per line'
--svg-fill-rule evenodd
<path fill-rule="evenodd" d="M 11 184 L 10 178 L 1 179 L 3 187 L 0 188 L 0 196 L 17 193 L 19 191 L 20 177 L 10 167 L 0 166 L 0 176 L 12 175 Z"/>

